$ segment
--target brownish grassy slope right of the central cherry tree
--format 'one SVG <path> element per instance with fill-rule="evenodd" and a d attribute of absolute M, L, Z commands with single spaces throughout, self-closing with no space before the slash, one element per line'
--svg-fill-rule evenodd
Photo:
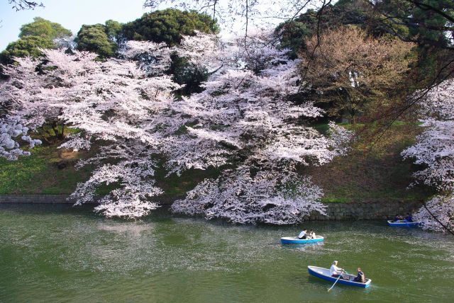
<path fill-rule="evenodd" d="M 419 167 L 411 160 L 402 160 L 401 152 L 414 144 L 421 127 L 414 123 L 395 122 L 377 139 L 373 125 L 344 125 L 357 132 L 357 142 L 346 156 L 331 163 L 303 168 L 313 176 L 313 181 L 323 188 L 323 202 L 354 202 L 426 199 L 431 195 L 428 188 L 407 189 L 413 181 L 412 173 Z M 325 125 L 319 125 L 321 131 Z M 373 134 L 373 135 L 372 135 Z"/>

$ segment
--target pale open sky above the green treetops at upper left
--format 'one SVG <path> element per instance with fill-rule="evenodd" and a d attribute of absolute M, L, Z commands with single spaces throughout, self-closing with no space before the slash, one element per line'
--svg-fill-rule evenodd
<path fill-rule="evenodd" d="M 33 18 L 42 17 L 57 22 L 75 35 L 82 24 L 104 23 L 106 20 L 125 23 L 133 21 L 149 8 L 144 9 L 144 0 L 36 0 L 43 2 L 44 8 L 34 11 L 16 11 L 8 0 L 0 0 L 0 51 L 9 42 L 18 39 L 21 25 L 31 23 Z"/>

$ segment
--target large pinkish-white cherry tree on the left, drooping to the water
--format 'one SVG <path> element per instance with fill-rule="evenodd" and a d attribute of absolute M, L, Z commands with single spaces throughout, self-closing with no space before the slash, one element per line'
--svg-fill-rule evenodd
<path fill-rule="evenodd" d="M 10 78 L 1 88 L 11 104 L 9 112 L 28 125 L 40 127 L 46 120 L 58 118 L 79 131 L 62 147 L 89 149 L 96 142 L 99 152 L 79 164 L 94 166 L 92 177 L 79 184 L 72 197 L 81 204 L 93 200 L 99 186 L 114 183 L 115 189 L 96 207 L 107 217 L 146 215 L 157 207 L 147 198 L 162 193 L 151 178 L 155 168 L 152 155 L 159 151 L 165 134 L 160 131 L 167 122 L 162 112 L 179 86 L 163 74 L 165 68 L 160 65 L 170 62 L 168 47 L 146 42 L 140 47 L 155 51 L 154 72 L 150 72 L 152 67 L 140 69 L 130 59 L 99 62 L 89 52 L 69 55 L 43 50 L 43 62 L 18 59 L 17 67 L 8 67 Z M 138 55 L 143 51 L 140 47 L 136 51 L 128 48 L 124 55 Z M 40 73 L 35 72 L 38 64 Z M 11 148 L 11 142 L 7 147 Z"/>

